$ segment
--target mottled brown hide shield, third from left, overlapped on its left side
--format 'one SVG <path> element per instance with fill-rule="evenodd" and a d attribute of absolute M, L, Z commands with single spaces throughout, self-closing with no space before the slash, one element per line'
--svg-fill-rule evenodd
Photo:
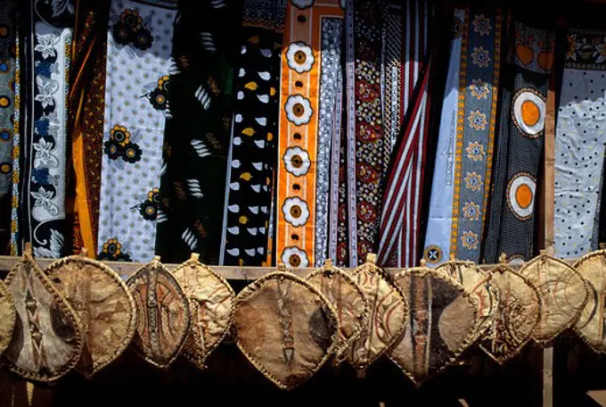
<path fill-rule="evenodd" d="M 133 295 L 113 270 L 83 256 L 53 262 L 45 273 L 78 313 L 84 347 L 76 369 L 90 378 L 118 358 L 133 340 Z"/>

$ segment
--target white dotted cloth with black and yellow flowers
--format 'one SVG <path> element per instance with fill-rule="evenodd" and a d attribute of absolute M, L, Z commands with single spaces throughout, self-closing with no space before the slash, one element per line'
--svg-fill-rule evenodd
<path fill-rule="evenodd" d="M 113 0 L 98 258 L 148 262 L 160 216 L 160 171 L 175 4 Z"/>

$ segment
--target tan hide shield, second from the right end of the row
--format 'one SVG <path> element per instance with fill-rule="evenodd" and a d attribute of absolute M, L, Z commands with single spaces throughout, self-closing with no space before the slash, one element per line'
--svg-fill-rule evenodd
<path fill-rule="evenodd" d="M 521 269 L 520 274 L 536 287 L 541 297 L 541 318 L 532 337 L 546 343 L 571 328 L 586 306 L 588 288 L 577 270 L 546 254 Z"/>

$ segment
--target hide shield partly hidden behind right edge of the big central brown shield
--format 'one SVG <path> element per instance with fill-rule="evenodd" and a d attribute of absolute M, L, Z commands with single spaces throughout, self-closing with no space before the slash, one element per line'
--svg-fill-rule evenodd
<path fill-rule="evenodd" d="M 339 345 L 335 351 L 338 361 L 349 345 L 362 335 L 370 319 L 370 304 L 362 288 L 348 273 L 333 266 L 315 270 L 306 277 L 331 303 L 339 320 Z"/>

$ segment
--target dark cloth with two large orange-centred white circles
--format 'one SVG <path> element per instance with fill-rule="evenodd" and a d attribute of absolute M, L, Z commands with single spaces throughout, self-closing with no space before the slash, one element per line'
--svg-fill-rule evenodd
<path fill-rule="evenodd" d="M 552 32 L 516 22 L 503 93 L 484 259 L 534 257 L 536 179 L 545 135 L 545 99 L 553 65 Z"/>

